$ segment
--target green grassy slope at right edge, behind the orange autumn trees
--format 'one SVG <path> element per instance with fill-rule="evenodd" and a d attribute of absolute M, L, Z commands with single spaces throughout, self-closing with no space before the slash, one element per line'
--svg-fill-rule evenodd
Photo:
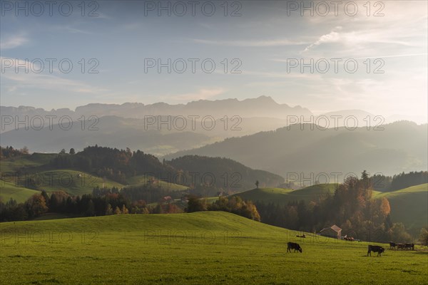
<path fill-rule="evenodd" d="M 410 229 L 420 229 L 428 225 L 428 184 L 422 184 L 379 193 L 375 198 L 387 197 L 391 206 L 391 218 L 402 222 Z"/>

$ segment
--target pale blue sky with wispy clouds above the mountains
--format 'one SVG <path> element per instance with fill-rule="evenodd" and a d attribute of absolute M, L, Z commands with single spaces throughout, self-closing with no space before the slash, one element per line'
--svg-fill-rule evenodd
<path fill-rule="evenodd" d="M 36 2 L 1 1 L 4 106 L 267 95 L 427 123 L 427 1 Z"/>

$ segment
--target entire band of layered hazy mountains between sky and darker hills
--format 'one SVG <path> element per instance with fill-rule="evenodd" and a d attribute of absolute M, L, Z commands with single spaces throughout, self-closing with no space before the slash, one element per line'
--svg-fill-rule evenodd
<path fill-rule="evenodd" d="M 18 121 L 21 123 L 16 124 Z M 304 131 L 300 130 L 302 122 L 310 123 Z M 267 96 L 178 105 L 96 103 L 76 110 L 1 106 L 0 145 L 59 152 L 100 144 L 167 158 L 193 154 L 230 157 L 281 175 L 301 170 L 370 168 L 388 174 L 425 169 L 426 145 L 419 142 L 427 141 L 426 125 L 398 123 L 385 131 L 373 130 L 387 122 L 364 110 L 315 116 L 307 108 L 279 104 Z M 292 130 L 285 128 L 296 123 Z M 354 125 L 358 128 L 350 130 Z M 370 130 L 365 131 L 367 128 Z M 389 135 L 391 128 L 397 130 Z M 370 162 L 367 167 L 362 160 Z"/>

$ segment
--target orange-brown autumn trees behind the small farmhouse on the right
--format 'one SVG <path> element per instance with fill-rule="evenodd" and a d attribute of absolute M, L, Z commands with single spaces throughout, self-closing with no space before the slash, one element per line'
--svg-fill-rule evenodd
<path fill-rule="evenodd" d="M 334 195 L 327 195 L 319 202 L 304 200 L 275 204 L 255 202 L 261 222 L 304 232 L 320 232 L 320 229 L 336 224 L 342 235 L 355 239 L 366 238 L 378 242 L 389 240 L 410 241 L 404 224 L 392 223 L 391 207 L 386 197 L 372 199 L 372 187 L 367 187 L 369 177 L 348 177 L 337 185 Z"/>

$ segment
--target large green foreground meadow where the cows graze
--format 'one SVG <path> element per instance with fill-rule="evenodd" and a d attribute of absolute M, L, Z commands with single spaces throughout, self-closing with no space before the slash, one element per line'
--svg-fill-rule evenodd
<path fill-rule="evenodd" d="M 225 212 L 0 224 L 1 284 L 426 284 L 428 252 L 295 237 Z M 286 253 L 286 242 L 303 252 Z"/>

